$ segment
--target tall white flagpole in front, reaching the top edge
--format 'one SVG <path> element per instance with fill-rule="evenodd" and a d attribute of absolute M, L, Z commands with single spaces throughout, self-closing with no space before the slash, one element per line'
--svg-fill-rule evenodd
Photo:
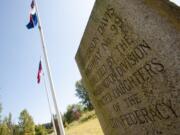
<path fill-rule="evenodd" d="M 54 90 L 54 84 L 53 84 L 52 76 L 51 76 L 51 72 L 50 72 L 50 66 L 49 66 L 48 57 L 47 57 L 46 44 L 45 44 L 45 41 L 44 41 L 43 30 L 42 30 L 42 27 L 41 27 L 41 20 L 40 20 L 39 13 L 38 13 L 38 6 L 37 6 L 37 2 L 35 0 L 34 0 L 34 2 L 35 2 L 37 18 L 38 18 L 38 28 L 39 28 L 41 42 L 42 42 L 42 50 L 43 50 L 43 54 L 44 54 L 48 80 L 49 80 L 49 83 L 50 83 L 50 90 L 51 90 L 51 94 L 52 94 L 53 101 L 54 101 L 53 103 L 54 103 L 54 107 L 55 107 L 55 111 L 56 111 L 56 115 L 57 115 L 58 126 L 59 126 L 59 130 L 60 130 L 60 134 L 65 135 L 64 126 L 63 126 L 63 122 L 62 122 L 62 117 L 61 117 L 61 115 L 59 113 L 59 109 L 58 109 L 58 105 L 57 105 L 57 99 L 56 99 L 56 93 L 55 93 L 55 90 Z"/>

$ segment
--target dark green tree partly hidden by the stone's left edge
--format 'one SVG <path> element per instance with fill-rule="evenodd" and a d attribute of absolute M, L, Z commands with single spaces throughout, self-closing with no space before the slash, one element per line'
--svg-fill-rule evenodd
<path fill-rule="evenodd" d="M 82 80 L 76 82 L 76 96 L 81 99 L 81 103 L 87 110 L 93 110 L 93 105 L 89 99 L 87 90 L 85 89 Z"/>

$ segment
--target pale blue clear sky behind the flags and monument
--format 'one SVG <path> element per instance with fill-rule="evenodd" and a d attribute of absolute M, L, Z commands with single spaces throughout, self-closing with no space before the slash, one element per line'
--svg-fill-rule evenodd
<path fill-rule="evenodd" d="M 180 0 L 172 0 L 180 5 Z M 75 83 L 81 79 L 75 54 L 95 0 L 37 0 L 47 43 L 58 107 L 66 111 L 78 103 Z M 37 70 L 43 56 L 38 29 L 27 30 L 31 0 L 1 0 L 0 102 L 2 115 L 13 122 L 27 109 L 35 123 L 50 121 L 44 84 L 37 84 Z M 43 63 L 43 69 L 44 63 Z M 51 102 L 52 104 L 52 102 Z M 54 110 L 53 110 L 54 112 Z"/>

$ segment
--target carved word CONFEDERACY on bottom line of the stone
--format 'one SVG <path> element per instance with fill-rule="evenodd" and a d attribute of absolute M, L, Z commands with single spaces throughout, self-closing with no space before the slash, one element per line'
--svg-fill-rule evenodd
<path fill-rule="evenodd" d="M 142 109 L 120 115 L 119 117 L 111 118 L 111 126 L 112 128 L 121 127 L 125 129 L 131 127 L 132 125 L 141 125 L 155 121 L 167 120 L 172 117 L 178 117 L 174 111 L 175 109 L 172 107 L 172 101 L 168 100 L 168 102 L 169 103 L 156 103 L 154 105 L 149 105 Z"/>

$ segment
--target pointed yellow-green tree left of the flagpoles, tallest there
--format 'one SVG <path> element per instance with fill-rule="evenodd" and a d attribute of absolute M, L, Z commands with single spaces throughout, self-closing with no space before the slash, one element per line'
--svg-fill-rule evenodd
<path fill-rule="evenodd" d="M 27 110 L 23 110 L 19 117 L 21 135 L 35 135 L 35 125 Z"/>

